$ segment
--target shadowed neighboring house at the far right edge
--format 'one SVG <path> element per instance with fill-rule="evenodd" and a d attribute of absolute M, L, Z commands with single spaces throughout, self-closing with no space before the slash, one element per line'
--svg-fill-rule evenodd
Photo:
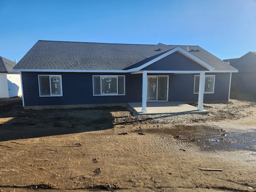
<path fill-rule="evenodd" d="M 230 94 L 236 98 L 256 99 L 256 52 L 248 52 L 235 59 L 225 62 L 238 69 L 232 74 Z"/>

